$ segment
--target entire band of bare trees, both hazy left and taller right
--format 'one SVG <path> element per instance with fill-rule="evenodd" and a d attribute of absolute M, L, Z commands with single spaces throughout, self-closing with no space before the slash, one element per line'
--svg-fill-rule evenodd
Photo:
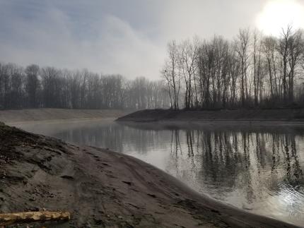
<path fill-rule="evenodd" d="M 148 54 L 148 53 L 147 53 Z M 240 29 L 233 40 L 175 40 L 162 80 L 0 63 L 0 108 L 235 109 L 303 107 L 304 35 Z"/>

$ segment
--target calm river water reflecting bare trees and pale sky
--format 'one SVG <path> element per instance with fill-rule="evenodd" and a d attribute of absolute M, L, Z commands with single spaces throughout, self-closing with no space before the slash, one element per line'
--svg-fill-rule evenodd
<path fill-rule="evenodd" d="M 304 224 L 303 126 L 113 121 L 18 126 L 132 155 L 212 198 Z"/>

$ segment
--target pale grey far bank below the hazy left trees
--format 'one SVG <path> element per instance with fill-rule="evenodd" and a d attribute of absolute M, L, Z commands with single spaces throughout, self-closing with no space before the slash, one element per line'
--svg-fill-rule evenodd
<path fill-rule="evenodd" d="M 117 118 L 130 111 L 119 109 L 21 109 L 0 111 L 0 121 L 17 123 L 25 121 L 55 121 L 66 119 Z"/>

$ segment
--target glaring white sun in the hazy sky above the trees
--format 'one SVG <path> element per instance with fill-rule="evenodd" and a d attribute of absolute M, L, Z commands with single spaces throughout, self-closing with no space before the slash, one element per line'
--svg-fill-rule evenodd
<path fill-rule="evenodd" d="M 257 15 L 256 25 L 265 34 L 275 36 L 288 25 L 304 28 L 304 4 L 296 0 L 271 0 Z"/>

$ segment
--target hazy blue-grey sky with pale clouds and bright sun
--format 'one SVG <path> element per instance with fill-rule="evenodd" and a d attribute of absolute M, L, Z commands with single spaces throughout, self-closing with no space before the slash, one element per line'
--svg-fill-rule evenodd
<path fill-rule="evenodd" d="M 169 40 L 303 16 L 304 0 L 0 0 L 0 61 L 158 78 Z"/>

